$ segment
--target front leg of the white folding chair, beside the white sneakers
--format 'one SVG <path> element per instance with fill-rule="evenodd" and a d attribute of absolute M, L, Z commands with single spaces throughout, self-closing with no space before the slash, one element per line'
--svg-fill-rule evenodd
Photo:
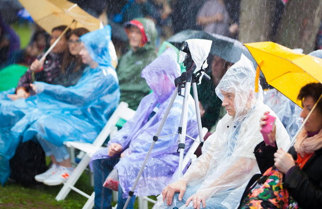
<path fill-rule="evenodd" d="M 86 154 L 74 169 L 73 174 L 67 179 L 67 181 L 59 191 L 58 195 L 56 196 L 57 201 L 64 200 L 68 193 L 70 193 L 71 187 L 75 185 L 79 177 L 82 175 L 89 161 L 90 157 Z"/>

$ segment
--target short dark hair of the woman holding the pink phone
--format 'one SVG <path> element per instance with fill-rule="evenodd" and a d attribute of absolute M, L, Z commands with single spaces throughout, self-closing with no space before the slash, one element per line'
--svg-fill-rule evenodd
<path fill-rule="evenodd" d="M 297 95 L 297 99 L 303 102 L 305 97 L 311 96 L 316 102 L 322 94 L 322 83 L 308 83 L 301 88 L 300 93 Z M 316 108 L 322 113 L 322 99 L 317 103 Z"/>

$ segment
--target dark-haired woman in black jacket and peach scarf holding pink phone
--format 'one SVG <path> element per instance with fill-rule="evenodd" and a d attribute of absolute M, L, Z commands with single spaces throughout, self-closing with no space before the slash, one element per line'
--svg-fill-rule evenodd
<path fill-rule="evenodd" d="M 302 101 L 303 110 L 300 116 L 303 119 L 308 116 L 321 94 L 321 83 L 309 83 L 302 87 L 297 99 Z M 267 114 L 268 112 L 261 118 L 261 127 L 267 124 Z M 274 129 L 270 132 L 270 137 L 275 141 Z M 289 152 L 272 147 L 263 141 L 257 145 L 254 153 L 262 174 L 273 165 L 284 174 L 283 187 L 297 202 L 298 207 L 320 208 L 322 205 L 322 100 L 318 101 Z M 252 185 L 258 177 L 254 176 L 248 185 Z M 242 198 L 239 208 L 249 208 L 255 204 L 263 208 L 267 207 L 267 202 L 264 205 L 262 200 L 248 198 L 254 191 L 245 191 L 248 196 Z M 264 195 L 263 193 L 265 191 L 258 196 Z"/>

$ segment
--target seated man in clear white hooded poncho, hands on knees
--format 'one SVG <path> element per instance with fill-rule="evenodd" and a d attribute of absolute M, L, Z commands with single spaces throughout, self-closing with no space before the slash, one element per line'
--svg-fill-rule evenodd
<path fill-rule="evenodd" d="M 252 175 L 259 172 L 255 146 L 263 140 L 259 120 L 265 111 L 262 88 L 255 93 L 255 69 L 244 56 L 228 69 L 216 87 L 227 114 L 203 144 L 202 155 L 158 197 L 155 208 L 235 208 Z M 277 144 L 286 148 L 289 136 L 276 119 Z"/>

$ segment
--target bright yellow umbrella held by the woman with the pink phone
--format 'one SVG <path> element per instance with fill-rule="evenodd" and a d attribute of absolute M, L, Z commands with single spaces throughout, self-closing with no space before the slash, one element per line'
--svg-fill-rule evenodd
<path fill-rule="evenodd" d="M 298 106 L 300 89 L 310 82 L 322 83 L 322 59 L 296 53 L 272 42 L 244 44 L 258 64 L 269 85 L 287 96 Z M 258 79 L 257 79 L 258 80 Z"/>

